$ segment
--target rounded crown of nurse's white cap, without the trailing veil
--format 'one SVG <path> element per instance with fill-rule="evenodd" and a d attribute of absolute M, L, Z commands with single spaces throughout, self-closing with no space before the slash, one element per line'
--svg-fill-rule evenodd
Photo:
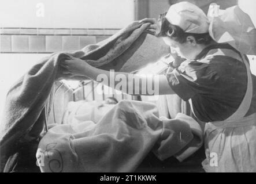
<path fill-rule="evenodd" d="M 209 21 L 206 14 L 190 2 L 180 2 L 170 6 L 165 18 L 170 24 L 179 26 L 186 33 L 209 32 Z"/>

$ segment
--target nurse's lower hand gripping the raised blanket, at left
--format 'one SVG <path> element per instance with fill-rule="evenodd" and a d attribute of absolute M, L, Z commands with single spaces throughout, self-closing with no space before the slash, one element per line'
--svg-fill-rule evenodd
<path fill-rule="evenodd" d="M 73 74 L 78 76 L 86 76 L 86 68 L 90 65 L 76 57 L 61 62 L 61 66 L 65 68 L 64 74 Z"/>

